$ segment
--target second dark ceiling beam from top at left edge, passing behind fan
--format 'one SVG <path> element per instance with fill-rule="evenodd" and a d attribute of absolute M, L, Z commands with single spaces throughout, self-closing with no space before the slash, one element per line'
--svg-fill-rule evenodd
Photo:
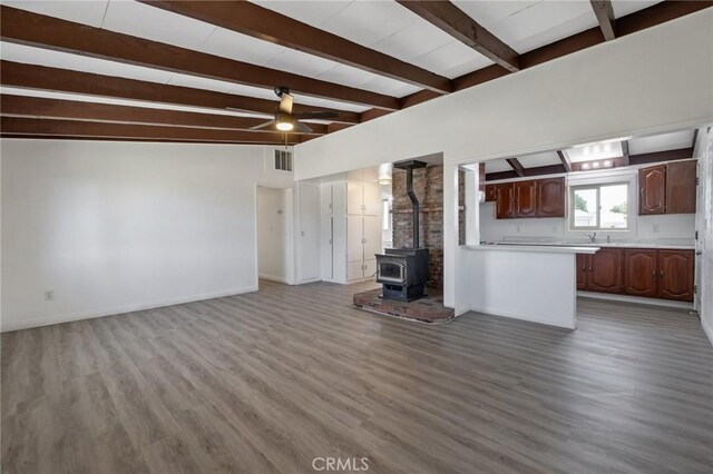
<path fill-rule="evenodd" d="M 277 100 L 256 99 L 205 89 L 168 86 L 157 82 L 11 61 L 0 61 L 0 83 L 8 87 L 113 97 L 117 99 L 145 100 L 223 110 L 235 109 L 246 112 L 264 113 L 266 116 L 272 116 L 277 107 Z M 339 113 L 338 118 L 331 119 L 333 121 L 343 124 L 359 122 L 359 113 L 355 112 L 296 103 L 294 106 L 295 112 L 323 110 Z"/>

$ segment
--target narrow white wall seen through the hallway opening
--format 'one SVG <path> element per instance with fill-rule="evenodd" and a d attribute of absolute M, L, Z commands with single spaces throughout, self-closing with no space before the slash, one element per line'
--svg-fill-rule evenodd
<path fill-rule="evenodd" d="M 257 187 L 257 270 L 261 278 L 287 283 L 285 189 Z"/>

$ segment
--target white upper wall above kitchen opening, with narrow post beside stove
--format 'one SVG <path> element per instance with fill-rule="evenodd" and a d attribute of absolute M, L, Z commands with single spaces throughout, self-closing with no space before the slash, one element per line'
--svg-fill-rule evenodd
<path fill-rule="evenodd" d="M 713 9 L 295 147 L 306 179 L 443 152 L 445 300 L 467 280 L 455 164 L 713 120 Z M 462 286 L 462 283 L 459 283 Z M 467 290 L 467 288 L 465 288 Z"/>

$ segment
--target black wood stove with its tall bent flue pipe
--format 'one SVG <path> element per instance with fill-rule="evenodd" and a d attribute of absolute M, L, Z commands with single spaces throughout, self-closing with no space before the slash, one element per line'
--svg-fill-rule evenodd
<path fill-rule="evenodd" d="M 377 255 L 377 283 L 388 299 L 411 302 L 426 296 L 428 282 L 428 248 L 419 247 L 419 213 L 421 206 L 413 192 L 413 170 L 426 167 L 423 161 L 401 161 L 393 165 L 407 172 L 406 188 L 413 204 L 413 248 L 387 248 Z"/>

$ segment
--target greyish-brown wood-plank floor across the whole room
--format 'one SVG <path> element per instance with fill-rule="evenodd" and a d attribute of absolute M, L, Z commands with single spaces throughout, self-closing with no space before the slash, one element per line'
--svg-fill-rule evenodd
<path fill-rule="evenodd" d="M 2 335 L 2 472 L 710 473 L 713 348 L 685 312 L 580 300 L 574 333 L 258 293 Z"/>

